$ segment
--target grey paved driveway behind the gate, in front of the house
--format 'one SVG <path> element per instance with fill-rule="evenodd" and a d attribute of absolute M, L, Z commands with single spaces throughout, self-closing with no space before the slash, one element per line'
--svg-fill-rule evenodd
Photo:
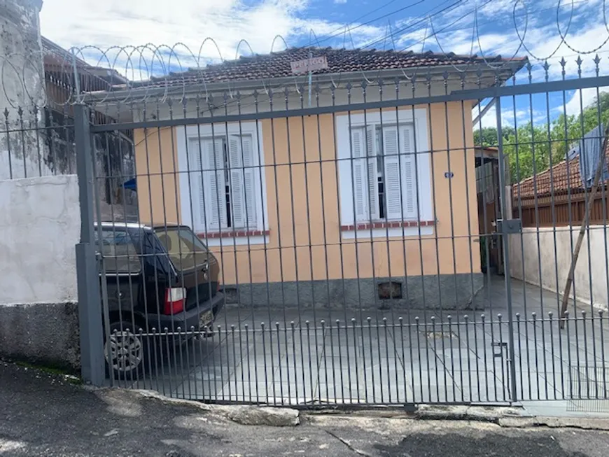
<path fill-rule="evenodd" d="M 561 330 L 554 293 L 515 280 L 511 289 L 515 379 L 505 283 L 496 279 L 477 296 L 484 311 L 228 308 L 213 336 L 165 357 L 152 351 L 146 375 L 116 383 L 272 405 L 500 404 L 514 389 L 517 400 L 604 404 L 595 400 L 608 397 L 607 316 L 571 304 Z"/>

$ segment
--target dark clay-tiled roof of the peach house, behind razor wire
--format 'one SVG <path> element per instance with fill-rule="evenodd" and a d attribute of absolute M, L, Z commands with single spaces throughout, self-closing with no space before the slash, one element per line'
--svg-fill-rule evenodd
<path fill-rule="evenodd" d="M 218 83 L 237 80 L 265 80 L 293 76 L 290 62 L 325 56 L 328 69 L 318 70 L 316 74 L 346 73 L 353 71 L 379 71 L 388 69 L 413 69 L 449 64 L 485 64 L 476 55 L 436 54 L 434 52 L 416 53 L 395 50 L 346 50 L 335 48 L 289 48 L 267 55 L 239 57 L 236 60 L 189 69 L 169 76 L 152 78 L 136 85 Z M 507 62 L 501 56 L 485 57 L 486 62 Z M 526 64 L 526 57 L 511 59 L 520 66 Z"/>

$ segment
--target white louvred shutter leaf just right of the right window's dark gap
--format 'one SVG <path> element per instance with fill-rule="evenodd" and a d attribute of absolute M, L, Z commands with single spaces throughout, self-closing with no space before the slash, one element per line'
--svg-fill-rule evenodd
<path fill-rule="evenodd" d="M 398 155 L 398 129 L 383 128 L 383 164 L 386 218 L 402 220 L 402 176 L 400 162 L 405 158 Z"/>

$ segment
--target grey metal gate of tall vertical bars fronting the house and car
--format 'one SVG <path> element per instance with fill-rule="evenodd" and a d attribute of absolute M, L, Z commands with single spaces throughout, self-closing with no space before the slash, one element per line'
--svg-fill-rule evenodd
<path fill-rule="evenodd" d="M 133 132 L 139 201 L 137 224 L 96 228 L 99 239 L 127 237 L 134 250 L 102 252 L 102 266 L 109 258 L 115 268 L 121 259 L 126 265 L 100 270 L 106 359 L 115 368 L 140 364 L 109 370 L 115 375 L 106 382 L 300 407 L 572 400 L 572 370 L 605 367 L 606 316 L 582 304 L 581 294 L 596 293 L 599 279 L 578 276 L 570 315 L 561 315 L 560 229 L 552 225 L 552 242 L 542 230 L 524 232 L 519 220 L 489 219 L 476 201 L 475 148 L 496 147 L 499 167 L 510 165 L 511 194 L 510 183 L 493 181 L 509 176 L 503 170 L 482 181 L 494 186 L 499 214 L 518 214 L 513 179 L 529 178 L 523 150 L 548 143 L 520 142 L 527 121 L 522 129 L 516 111 L 537 109 L 533 94 L 600 93 L 605 79 L 514 84 L 514 76 L 500 87 L 486 87 L 485 74 L 473 82 L 448 73 L 381 79 L 314 86 L 310 107 L 302 87 L 129 105 L 98 97 L 94 108 L 113 113 L 116 124 L 93 124 L 91 136 Z M 465 90 L 468 84 L 477 88 Z M 485 97 L 501 113 L 498 136 L 475 144 L 468 125 Z M 398 181 L 391 181 L 395 170 Z M 542 171 L 533 168 L 530 179 Z M 188 227 L 187 239 L 169 247 L 162 239 L 165 248 L 151 252 L 144 240 L 169 236 L 176 223 Z M 184 286 L 186 311 L 178 305 L 174 313 L 167 289 L 192 283 L 181 262 L 197 265 L 199 240 L 220 291 L 214 295 L 208 265 L 200 286 Z M 597 257 L 589 249 L 589 265 L 604 263 L 606 252 Z M 491 258 L 505 276 L 495 275 Z M 608 290 L 604 280 L 601 290 Z M 214 323 L 188 324 L 188 316 L 209 317 L 210 309 Z M 605 399 L 604 391 L 586 389 L 586 398 Z"/>

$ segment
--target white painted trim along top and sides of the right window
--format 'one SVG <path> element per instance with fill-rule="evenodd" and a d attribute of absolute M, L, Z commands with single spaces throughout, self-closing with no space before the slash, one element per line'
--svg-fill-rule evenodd
<path fill-rule="evenodd" d="M 429 135 L 427 125 L 427 110 L 425 108 L 412 108 L 398 110 L 396 119 L 395 111 L 383 111 L 382 120 L 385 125 L 395 125 L 396 123 L 413 124 L 416 136 L 416 165 L 417 165 L 417 198 L 419 199 L 419 220 L 433 219 L 433 206 L 431 202 L 431 169 L 429 153 Z M 340 196 L 340 224 L 354 225 L 353 212 L 353 176 L 351 174 L 351 137 L 349 127 L 363 127 L 368 124 L 379 124 L 381 113 L 363 113 L 336 116 L 336 153 L 339 160 L 339 196 Z M 405 220 L 407 220 L 405 218 Z M 375 221 L 372 221 L 375 222 Z M 381 230 L 381 237 L 386 236 L 385 229 Z M 390 229 L 393 230 L 393 229 Z M 401 229 L 400 235 L 401 235 Z M 366 231 L 364 231 L 366 232 Z M 370 230 L 367 230 L 367 237 L 370 237 Z M 345 232 L 346 233 L 346 232 Z M 373 230 L 373 234 L 374 234 Z M 418 230 L 417 230 L 418 233 Z M 353 237 L 355 237 L 353 235 Z M 359 237 L 359 235 L 358 235 Z"/>

